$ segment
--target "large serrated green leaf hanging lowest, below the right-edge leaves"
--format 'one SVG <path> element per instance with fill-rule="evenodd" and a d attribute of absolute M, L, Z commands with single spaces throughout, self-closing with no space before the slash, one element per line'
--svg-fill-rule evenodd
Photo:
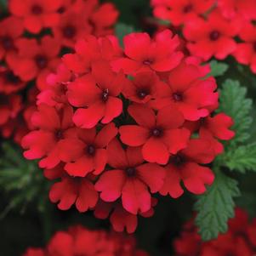
<path fill-rule="evenodd" d="M 236 180 L 216 172 L 213 185 L 198 196 L 195 204 L 196 225 L 202 240 L 211 240 L 227 230 L 228 219 L 234 217 L 235 196 L 240 196 Z"/>

